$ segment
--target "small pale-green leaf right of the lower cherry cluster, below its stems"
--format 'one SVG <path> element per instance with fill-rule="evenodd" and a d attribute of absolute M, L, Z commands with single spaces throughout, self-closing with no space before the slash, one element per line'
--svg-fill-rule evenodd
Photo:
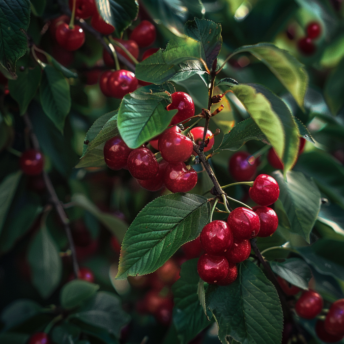
<path fill-rule="evenodd" d="M 300 258 L 289 258 L 284 262 L 270 261 L 272 271 L 287 282 L 301 289 L 308 289 L 312 271 L 307 263 Z"/>

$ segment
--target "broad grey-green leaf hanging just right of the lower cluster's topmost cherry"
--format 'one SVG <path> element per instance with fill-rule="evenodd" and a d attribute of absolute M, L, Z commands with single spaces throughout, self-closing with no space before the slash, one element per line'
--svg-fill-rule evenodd
<path fill-rule="evenodd" d="M 313 179 L 301 172 L 287 172 L 287 182 L 280 171 L 273 172 L 272 176 L 280 187 L 279 200 L 290 224 L 288 230 L 301 235 L 309 243 L 320 210 L 319 189 Z"/>

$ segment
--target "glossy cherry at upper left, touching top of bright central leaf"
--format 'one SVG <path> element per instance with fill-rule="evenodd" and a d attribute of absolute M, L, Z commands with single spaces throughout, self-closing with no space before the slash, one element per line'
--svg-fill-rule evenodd
<path fill-rule="evenodd" d="M 135 74 L 129 70 L 115 70 L 108 79 L 108 89 L 111 96 L 122 99 L 126 94 L 136 90 L 139 85 Z"/>

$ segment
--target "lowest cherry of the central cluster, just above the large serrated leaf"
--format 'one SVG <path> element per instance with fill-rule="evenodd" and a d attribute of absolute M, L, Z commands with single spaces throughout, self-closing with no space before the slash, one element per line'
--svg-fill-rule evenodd
<path fill-rule="evenodd" d="M 164 183 L 171 192 L 188 192 L 197 184 L 197 179 L 197 172 L 184 163 L 166 166 Z"/>

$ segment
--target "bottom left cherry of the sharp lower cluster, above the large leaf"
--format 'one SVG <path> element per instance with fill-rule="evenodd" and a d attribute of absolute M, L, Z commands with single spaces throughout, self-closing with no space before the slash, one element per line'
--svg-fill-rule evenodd
<path fill-rule="evenodd" d="M 225 257 L 201 255 L 197 263 L 197 271 L 204 282 L 215 284 L 225 279 L 229 273 L 229 263 Z"/>

